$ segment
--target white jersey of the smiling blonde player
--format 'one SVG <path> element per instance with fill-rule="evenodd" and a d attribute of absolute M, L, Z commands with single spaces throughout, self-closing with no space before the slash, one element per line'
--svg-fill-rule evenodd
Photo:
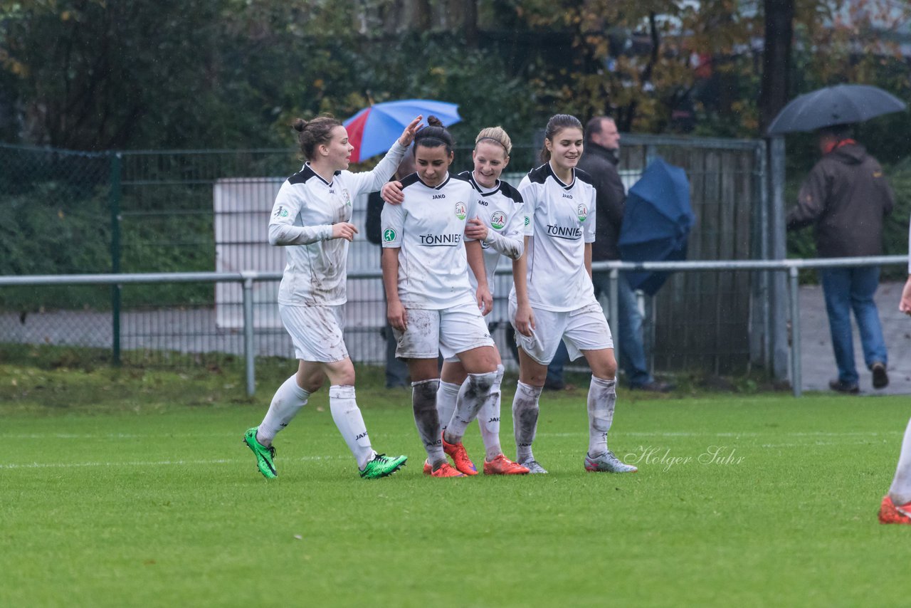
<path fill-rule="evenodd" d="M 525 205 L 522 203 L 522 195 L 506 181 L 496 180 L 496 186 L 488 189 L 477 183 L 471 171 L 463 171 L 459 177 L 468 180 L 475 189 L 477 216 L 487 227 L 487 238 L 481 242 L 481 247 L 484 249 L 487 288 L 493 294 L 494 273 L 500 256 L 506 255 L 511 260 L 517 260 L 525 249 Z M 477 279 L 470 268 L 468 281 L 471 282 L 471 288 L 476 290 Z"/>

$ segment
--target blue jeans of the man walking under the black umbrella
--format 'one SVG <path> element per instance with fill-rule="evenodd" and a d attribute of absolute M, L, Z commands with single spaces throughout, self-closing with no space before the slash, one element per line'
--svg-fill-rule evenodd
<path fill-rule="evenodd" d="M 864 348 L 864 362 L 869 368 L 877 361 L 886 364 L 883 327 L 873 294 L 879 286 L 879 268 L 821 268 L 819 278 L 823 283 L 825 311 L 829 314 L 829 331 L 838 366 L 838 379 L 847 384 L 857 384 L 854 340 L 851 335 L 851 311 L 854 310 L 860 341 Z"/>

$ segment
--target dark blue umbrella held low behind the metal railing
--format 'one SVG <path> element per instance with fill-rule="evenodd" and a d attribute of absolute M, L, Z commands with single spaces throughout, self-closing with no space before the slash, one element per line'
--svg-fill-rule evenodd
<path fill-rule="evenodd" d="M 696 221 L 690 207 L 690 180 L 680 167 L 652 160 L 630 188 L 620 227 L 620 259 L 665 262 L 686 259 L 687 237 Z M 626 273 L 633 289 L 654 295 L 668 273 Z"/>

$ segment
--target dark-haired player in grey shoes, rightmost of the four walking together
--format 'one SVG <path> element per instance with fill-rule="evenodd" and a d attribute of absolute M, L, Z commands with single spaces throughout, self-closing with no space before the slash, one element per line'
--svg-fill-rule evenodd
<path fill-rule="evenodd" d="M 538 398 L 561 338 L 570 359 L 581 354 L 591 367 L 585 469 L 637 470 L 608 449 L 617 401 L 617 362 L 608 322 L 591 283 L 595 189 L 588 173 L 576 169 L 582 139 L 582 124 L 576 117 L 552 117 L 541 150 L 545 164 L 529 171 L 518 187 L 528 220 L 525 255 L 519 259 L 509 294 L 509 316 L 519 346 L 513 427 L 517 462 L 532 473 L 548 472 L 535 459 L 531 444 L 537 430 Z"/>

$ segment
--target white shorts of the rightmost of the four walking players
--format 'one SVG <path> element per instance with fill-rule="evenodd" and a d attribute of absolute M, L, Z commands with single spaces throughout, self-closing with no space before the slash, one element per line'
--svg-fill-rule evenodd
<path fill-rule="evenodd" d="M 514 329 L 516 309 L 517 304 L 509 300 L 509 319 Z M 560 338 L 567 345 L 570 361 L 578 359 L 583 350 L 614 347 L 608 320 L 597 302 L 563 313 L 534 307 L 531 310 L 535 314 L 535 329 L 531 330 L 531 337 L 517 330 L 516 344 L 542 366 L 549 365 L 557 354 Z"/>

